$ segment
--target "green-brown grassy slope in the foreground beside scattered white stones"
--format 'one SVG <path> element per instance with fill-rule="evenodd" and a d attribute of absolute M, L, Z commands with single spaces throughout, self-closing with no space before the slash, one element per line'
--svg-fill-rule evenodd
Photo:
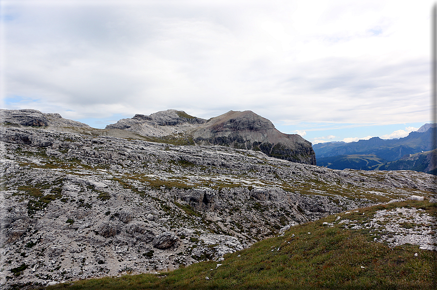
<path fill-rule="evenodd" d="M 409 244 L 390 248 L 373 241 L 381 232 L 371 235 L 370 229 L 344 229 L 344 223 L 336 222 L 341 217 L 364 225 L 376 211 L 400 207 L 421 208 L 430 216 L 437 215 L 437 204 L 427 200 L 376 205 L 292 227 L 285 236 L 227 254 L 222 262 L 201 262 L 159 275 L 76 281 L 47 289 L 436 289 L 435 251 Z M 435 225 L 432 230 L 436 231 Z M 223 265 L 216 269 L 217 263 Z"/>

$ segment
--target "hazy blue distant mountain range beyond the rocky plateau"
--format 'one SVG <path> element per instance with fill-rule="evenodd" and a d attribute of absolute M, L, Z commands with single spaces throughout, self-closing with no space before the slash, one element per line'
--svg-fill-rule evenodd
<path fill-rule="evenodd" d="M 436 148 L 432 142 L 436 124 L 425 124 L 407 137 L 313 145 L 317 165 L 333 169 L 415 170 L 436 174 Z"/>

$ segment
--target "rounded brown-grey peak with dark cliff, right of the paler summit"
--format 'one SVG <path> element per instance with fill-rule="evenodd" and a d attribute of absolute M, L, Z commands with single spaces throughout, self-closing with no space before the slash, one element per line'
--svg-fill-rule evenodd
<path fill-rule="evenodd" d="M 190 132 L 198 145 L 225 145 L 259 150 L 268 156 L 316 164 L 311 143 L 296 134 L 284 134 L 252 111 L 228 111 Z"/>

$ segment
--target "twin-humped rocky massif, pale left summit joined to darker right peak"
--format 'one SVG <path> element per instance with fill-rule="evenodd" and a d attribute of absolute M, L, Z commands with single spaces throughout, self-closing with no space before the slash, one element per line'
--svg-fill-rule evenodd
<path fill-rule="evenodd" d="M 179 140 L 186 145 L 222 145 L 257 150 L 270 157 L 316 165 L 311 143 L 297 134 L 278 131 L 266 118 L 252 111 L 228 111 L 209 120 L 184 111 L 166 110 L 150 116 L 135 115 L 106 129 L 122 129 L 143 136 Z"/>

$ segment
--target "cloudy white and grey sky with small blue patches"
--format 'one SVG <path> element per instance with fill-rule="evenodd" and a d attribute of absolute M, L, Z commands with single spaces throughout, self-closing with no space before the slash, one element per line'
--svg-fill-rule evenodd
<path fill-rule="evenodd" d="M 0 108 L 251 110 L 313 144 L 431 123 L 431 0 L 0 0 Z"/>

